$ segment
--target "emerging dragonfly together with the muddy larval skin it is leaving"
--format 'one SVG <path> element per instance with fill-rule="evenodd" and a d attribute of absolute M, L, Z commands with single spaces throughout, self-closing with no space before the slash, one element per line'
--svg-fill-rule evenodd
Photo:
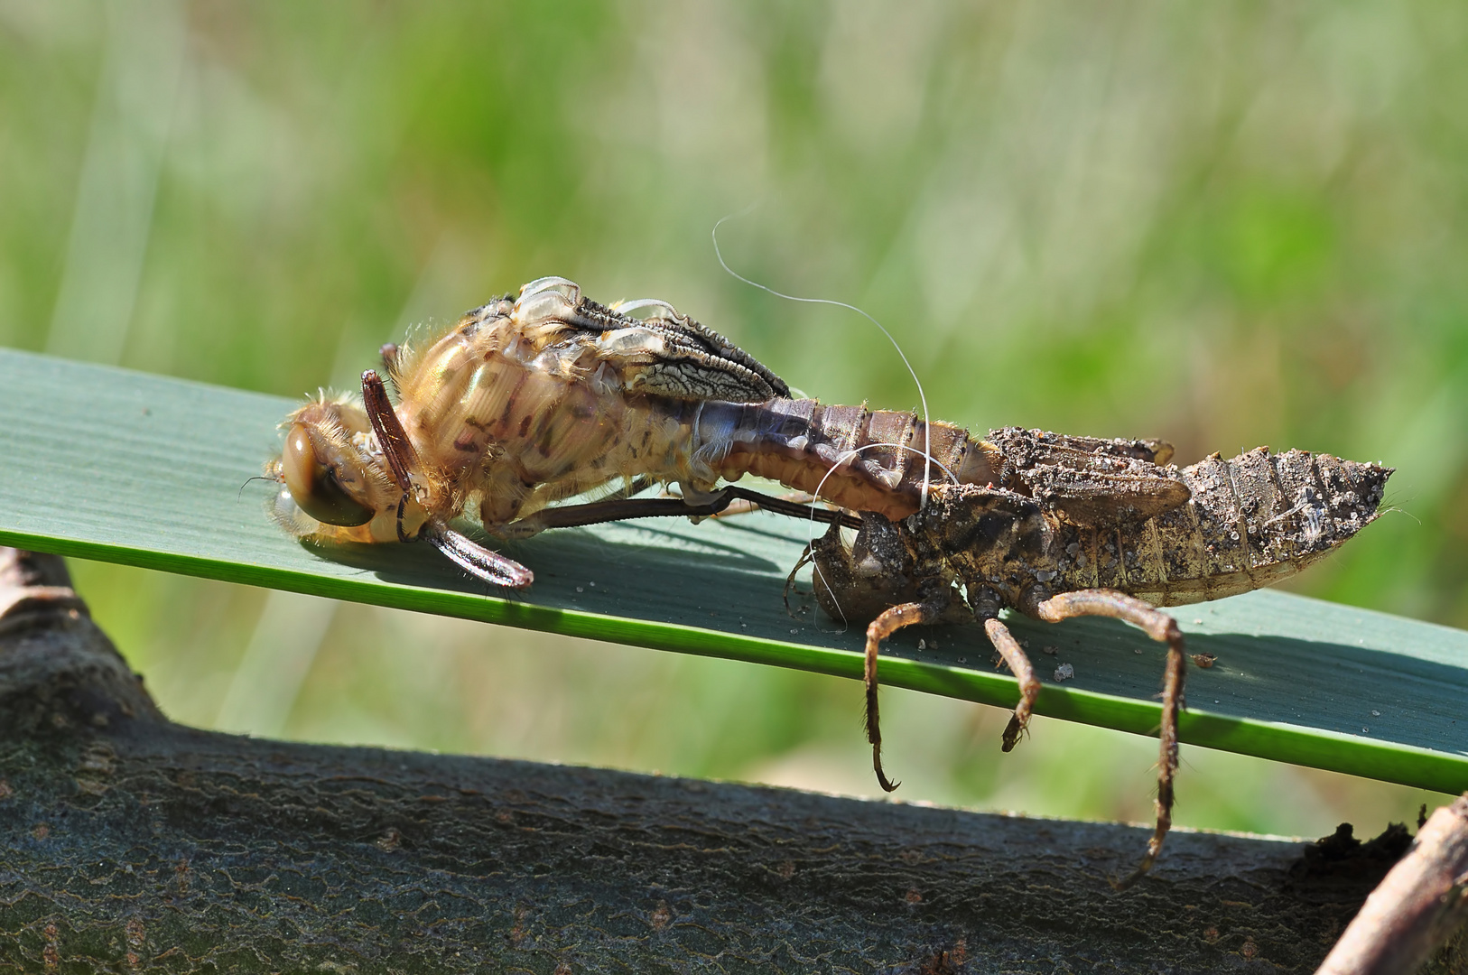
<path fill-rule="evenodd" d="M 872 762 L 881 642 L 901 627 L 978 620 L 1020 684 L 1004 750 L 1039 681 L 1000 620 L 1105 615 L 1167 645 L 1157 828 L 1170 827 L 1186 658 L 1155 606 L 1220 599 L 1293 574 L 1377 517 L 1389 468 L 1324 454 L 1218 455 L 1179 470 L 1160 441 L 1006 429 L 976 439 L 910 413 L 790 398 L 769 369 L 662 301 L 605 307 L 561 278 L 465 314 L 423 347 L 385 347 L 361 399 L 326 396 L 286 417 L 276 520 L 317 542 L 424 539 L 486 581 L 534 576 L 451 527 L 523 537 L 647 515 L 708 515 L 744 499 L 818 518 L 807 551 L 822 606 L 866 631 Z M 835 511 L 741 489 L 777 480 Z M 681 498 L 636 498 L 675 483 Z M 602 490 L 600 501 L 556 505 Z M 847 546 L 841 527 L 856 527 Z"/>

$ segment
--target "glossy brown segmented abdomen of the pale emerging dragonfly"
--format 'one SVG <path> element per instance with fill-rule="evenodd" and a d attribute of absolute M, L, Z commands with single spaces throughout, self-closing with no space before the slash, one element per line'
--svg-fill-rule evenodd
<path fill-rule="evenodd" d="M 984 483 L 986 455 L 963 427 L 912 413 L 826 407 L 816 399 L 708 402 L 699 452 L 719 477 L 769 477 L 856 511 L 904 518 L 922 499 L 926 446 L 932 483 Z"/>

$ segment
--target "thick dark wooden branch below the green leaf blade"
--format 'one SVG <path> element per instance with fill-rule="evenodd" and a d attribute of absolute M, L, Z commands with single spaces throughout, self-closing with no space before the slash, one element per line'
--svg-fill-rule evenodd
<path fill-rule="evenodd" d="M 1395 859 L 198 731 L 0 567 L 3 971 L 1311 971 Z"/>

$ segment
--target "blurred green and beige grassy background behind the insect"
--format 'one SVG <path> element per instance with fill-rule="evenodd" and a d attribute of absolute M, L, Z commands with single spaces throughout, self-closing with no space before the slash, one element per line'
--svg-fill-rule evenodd
<path fill-rule="evenodd" d="M 915 405 L 865 320 L 719 269 L 753 206 L 731 266 L 875 314 L 934 417 L 1398 467 L 1295 587 L 1462 627 L 1465 41 L 1437 1 L 0 0 L 0 345 L 295 396 L 562 275 Z M 75 573 L 181 721 L 876 791 L 850 681 Z M 1151 819 L 1151 740 L 1039 718 L 1003 756 L 1000 711 L 884 693 L 903 799 Z M 1439 800 L 1183 755 L 1186 825 Z"/>

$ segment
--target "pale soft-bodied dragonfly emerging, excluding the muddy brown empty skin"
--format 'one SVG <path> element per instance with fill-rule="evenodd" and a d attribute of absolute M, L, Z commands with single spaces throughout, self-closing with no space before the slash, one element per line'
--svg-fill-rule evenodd
<path fill-rule="evenodd" d="M 826 510 L 719 486 L 769 477 L 851 511 L 918 510 L 926 451 L 960 482 L 986 479 L 967 433 L 912 414 L 790 399 L 771 370 L 662 301 L 605 307 L 561 278 L 465 314 L 424 347 L 386 347 L 398 389 L 321 395 L 286 417 L 266 465 L 276 520 L 316 542 L 424 539 L 490 583 L 533 573 L 449 527 L 465 512 L 499 537 L 614 518 L 713 514 L 734 499 Z M 677 483 L 681 498 L 550 507 L 574 495 Z"/>

